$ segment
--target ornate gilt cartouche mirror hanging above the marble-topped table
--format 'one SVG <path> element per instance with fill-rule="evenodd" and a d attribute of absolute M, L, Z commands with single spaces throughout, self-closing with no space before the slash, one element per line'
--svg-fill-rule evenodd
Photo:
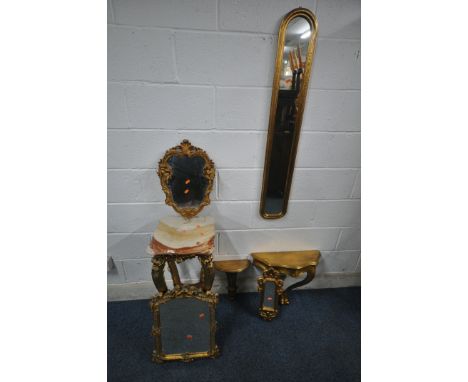
<path fill-rule="evenodd" d="M 189 219 L 210 204 L 215 167 L 208 154 L 184 139 L 166 151 L 158 168 L 166 204 Z"/>

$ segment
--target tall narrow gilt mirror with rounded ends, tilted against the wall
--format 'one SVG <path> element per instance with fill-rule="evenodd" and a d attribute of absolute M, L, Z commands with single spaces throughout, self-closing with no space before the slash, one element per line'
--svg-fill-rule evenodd
<path fill-rule="evenodd" d="M 287 211 L 317 31 L 315 15 L 305 8 L 289 12 L 280 25 L 260 202 L 265 219 Z"/>

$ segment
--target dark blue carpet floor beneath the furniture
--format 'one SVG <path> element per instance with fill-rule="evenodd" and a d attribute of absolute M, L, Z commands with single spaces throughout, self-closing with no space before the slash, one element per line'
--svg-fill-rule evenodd
<path fill-rule="evenodd" d="M 148 300 L 110 302 L 107 308 L 108 381 L 359 381 L 360 288 L 290 293 L 271 322 L 257 315 L 259 295 L 220 296 L 217 359 L 151 362 Z"/>

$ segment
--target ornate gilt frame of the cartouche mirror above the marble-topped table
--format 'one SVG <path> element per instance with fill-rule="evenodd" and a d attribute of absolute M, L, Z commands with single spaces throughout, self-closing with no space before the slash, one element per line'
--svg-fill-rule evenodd
<path fill-rule="evenodd" d="M 203 177 L 207 180 L 207 187 L 200 204 L 195 207 L 181 207 L 174 201 L 169 182 L 173 176 L 172 166 L 169 160 L 174 157 L 201 157 L 204 160 Z M 166 204 L 186 219 L 196 216 L 206 205 L 210 204 L 210 193 L 213 189 L 213 180 L 215 177 L 215 166 L 208 154 L 199 147 L 192 146 L 190 141 L 184 139 L 178 146 L 172 147 L 166 151 L 159 161 L 158 176 L 161 181 L 161 187 L 166 195 Z"/>

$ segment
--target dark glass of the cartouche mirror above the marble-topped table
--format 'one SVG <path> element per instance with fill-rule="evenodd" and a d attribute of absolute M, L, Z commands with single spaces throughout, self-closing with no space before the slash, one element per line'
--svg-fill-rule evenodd
<path fill-rule="evenodd" d="M 205 160 L 174 155 L 168 164 L 172 169 L 168 185 L 174 202 L 180 208 L 199 206 L 208 187 L 208 179 L 203 175 Z"/>

